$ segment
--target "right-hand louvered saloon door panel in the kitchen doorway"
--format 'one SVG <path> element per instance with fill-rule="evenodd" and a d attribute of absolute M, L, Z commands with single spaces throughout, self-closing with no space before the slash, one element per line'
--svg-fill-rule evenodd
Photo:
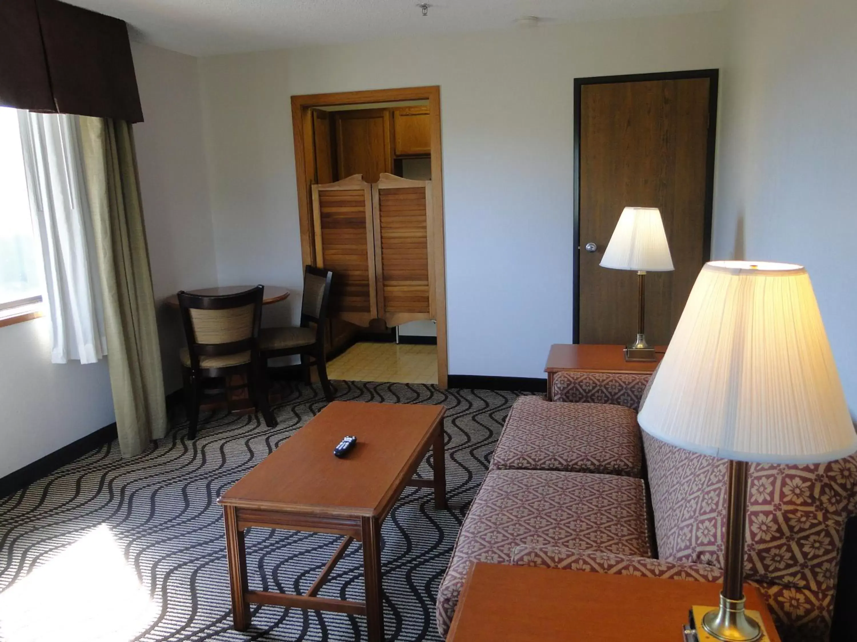
<path fill-rule="evenodd" d="M 378 316 L 390 326 L 435 318 L 431 181 L 381 174 L 372 205 Z"/>

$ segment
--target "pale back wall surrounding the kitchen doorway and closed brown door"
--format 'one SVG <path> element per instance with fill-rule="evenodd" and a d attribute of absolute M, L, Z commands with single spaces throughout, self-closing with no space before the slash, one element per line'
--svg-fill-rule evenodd
<path fill-rule="evenodd" d="M 723 52 L 701 14 L 204 58 L 219 281 L 300 294 L 291 95 L 440 85 L 449 372 L 543 377 L 572 338 L 573 79 Z"/>

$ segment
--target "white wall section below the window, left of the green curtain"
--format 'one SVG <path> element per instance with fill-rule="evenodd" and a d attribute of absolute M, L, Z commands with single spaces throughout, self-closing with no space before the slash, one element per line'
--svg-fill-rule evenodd
<path fill-rule="evenodd" d="M 51 363 L 46 318 L 0 328 L 0 477 L 116 420 L 107 362 Z"/>

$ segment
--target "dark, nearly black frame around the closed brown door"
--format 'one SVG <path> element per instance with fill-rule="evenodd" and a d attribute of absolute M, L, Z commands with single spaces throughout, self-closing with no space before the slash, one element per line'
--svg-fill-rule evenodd
<path fill-rule="evenodd" d="M 572 264 L 574 265 L 572 312 L 572 342 L 580 341 L 580 90 L 584 85 L 606 85 L 619 82 L 643 82 L 645 80 L 688 80 L 707 78 L 709 85 L 708 145 L 705 152 L 705 233 L 703 254 L 711 257 L 711 218 L 714 211 L 714 156 L 717 135 L 717 92 L 719 69 L 697 69 L 693 71 L 668 71 L 657 74 L 628 74 L 619 76 L 594 76 L 574 79 L 574 239 Z"/>

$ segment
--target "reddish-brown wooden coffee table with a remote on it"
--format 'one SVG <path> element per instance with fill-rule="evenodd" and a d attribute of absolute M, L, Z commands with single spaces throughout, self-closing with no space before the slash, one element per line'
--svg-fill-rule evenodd
<path fill-rule="evenodd" d="M 446 508 L 442 406 L 333 401 L 321 413 L 227 490 L 223 506 L 232 619 L 249 627 L 249 604 L 366 615 L 369 640 L 384 639 L 381 598 L 381 523 L 406 486 L 434 488 L 434 505 Z M 342 437 L 357 445 L 333 456 Z M 434 479 L 413 479 L 434 449 Z M 244 530 L 283 528 L 328 532 L 345 540 L 304 595 L 250 591 Z M 317 597 L 351 542 L 363 543 L 366 602 Z"/>

